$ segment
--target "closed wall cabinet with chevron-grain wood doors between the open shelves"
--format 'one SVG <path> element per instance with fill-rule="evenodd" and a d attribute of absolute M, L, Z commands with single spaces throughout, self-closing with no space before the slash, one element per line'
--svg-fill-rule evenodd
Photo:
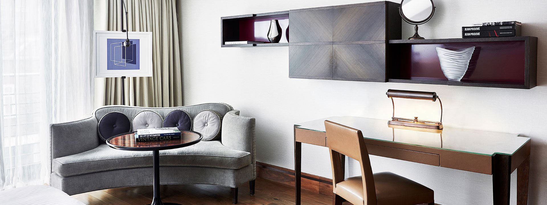
<path fill-rule="evenodd" d="M 290 10 L 289 78 L 387 81 L 387 40 L 401 36 L 398 6 L 370 2 Z"/>

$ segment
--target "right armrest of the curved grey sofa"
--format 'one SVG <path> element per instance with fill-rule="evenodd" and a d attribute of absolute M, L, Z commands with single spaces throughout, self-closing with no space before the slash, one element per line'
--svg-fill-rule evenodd
<path fill-rule="evenodd" d="M 239 110 L 231 110 L 224 115 L 220 141 L 230 149 L 251 153 L 253 166 L 256 166 L 255 119 L 239 116 L 239 113 Z M 253 171 L 254 169 L 253 167 Z"/>

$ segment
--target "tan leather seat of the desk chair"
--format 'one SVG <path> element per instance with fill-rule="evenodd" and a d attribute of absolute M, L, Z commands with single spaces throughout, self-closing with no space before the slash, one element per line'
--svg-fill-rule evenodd
<path fill-rule="evenodd" d="M 433 190 L 391 172 L 374 174 L 377 205 L 416 205 L 434 202 Z M 353 204 L 364 204 L 363 179 L 347 178 L 336 184 L 336 194 Z"/>

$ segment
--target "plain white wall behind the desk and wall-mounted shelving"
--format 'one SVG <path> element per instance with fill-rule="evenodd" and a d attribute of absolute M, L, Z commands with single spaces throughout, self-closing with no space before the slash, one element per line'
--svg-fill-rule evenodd
<path fill-rule="evenodd" d="M 445 126 L 519 133 L 532 138 L 529 204 L 547 204 L 547 2 L 435 0 L 426 38 L 459 38 L 473 22 L 519 20 L 523 36 L 539 38 L 538 87 L 531 90 L 368 83 L 288 78 L 288 47 L 220 48 L 220 17 L 363 3 L 366 0 L 184 0 L 181 12 L 184 104 L 225 102 L 257 119 L 257 161 L 294 168 L 293 124 L 326 116 L 389 119 L 388 89 L 435 91 Z M 362 22 L 366 24 L 366 22 Z M 403 25 L 403 36 L 413 34 Z M 327 148 L 302 145 L 302 170 L 331 177 Z M 441 204 L 492 204 L 490 175 L 371 157 L 375 172 L 390 171 L 435 190 Z M 351 173 L 357 173 L 351 163 Z M 516 172 L 515 172 L 516 173 Z M 512 200 L 515 203 L 515 173 Z"/>

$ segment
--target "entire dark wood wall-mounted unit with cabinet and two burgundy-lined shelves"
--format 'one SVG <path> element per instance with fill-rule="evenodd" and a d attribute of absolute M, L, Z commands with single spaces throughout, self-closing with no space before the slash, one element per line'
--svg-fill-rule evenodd
<path fill-rule="evenodd" d="M 221 17 L 221 46 L 289 46 L 289 78 L 513 89 L 536 86 L 537 37 L 393 40 L 401 38 L 398 6 L 369 2 Z M 280 43 L 224 45 L 227 41 L 268 42 L 271 19 L 282 27 Z M 476 48 L 463 79 L 447 80 L 435 47 L 472 46 Z"/>

